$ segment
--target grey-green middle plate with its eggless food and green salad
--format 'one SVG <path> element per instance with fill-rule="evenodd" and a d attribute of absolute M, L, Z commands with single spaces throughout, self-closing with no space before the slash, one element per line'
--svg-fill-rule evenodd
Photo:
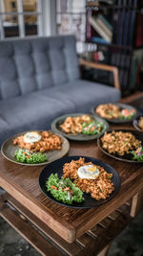
<path fill-rule="evenodd" d="M 56 118 L 51 123 L 51 129 L 70 140 L 89 141 L 108 130 L 109 124 L 91 114 L 72 113 Z"/>

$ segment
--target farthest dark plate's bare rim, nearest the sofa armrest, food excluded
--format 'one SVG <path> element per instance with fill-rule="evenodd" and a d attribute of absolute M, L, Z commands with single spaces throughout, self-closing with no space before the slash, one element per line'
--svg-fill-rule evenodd
<path fill-rule="evenodd" d="M 110 122 L 110 123 L 113 123 L 113 124 L 123 124 L 123 123 L 129 123 L 129 122 L 132 122 L 133 121 L 133 119 L 134 118 L 136 118 L 137 116 L 138 116 L 138 114 L 139 114 L 139 111 L 134 107 L 134 106 L 132 106 L 132 105 L 125 105 L 125 104 L 114 104 L 113 103 L 113 105 L 118 105 L 119 107 L 120 107 L 120 109 L 122 110 L 123 108 L 127 108 L 127 109 L 129 109 L 129 110 L 132 110 L 132 109 L 135 109 L 135 114 L 133 115 L 133 118 L 131 118 L 130 120 L 126 120 L 126 119 L 121 119 L 121 118 L 112 118 L 112 119 L 110 119 L 110 118 L 105 118 L 105 120 L 107 120 L 108 122 Z M 94 106 L 94 107 L 92 107 L 92 114 L 94 115 L 94 116 L 98 116 L 99 117 L 99 115 L 96 113 L 96 108 L 97 108 L 97 106 Z M 102 117 L 103 118 L 103 117 Z"/>

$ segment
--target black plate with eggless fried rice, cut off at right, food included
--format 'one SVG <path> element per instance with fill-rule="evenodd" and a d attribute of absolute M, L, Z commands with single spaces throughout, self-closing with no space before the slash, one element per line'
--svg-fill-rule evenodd
<path fill-rule="evenodd" d="M 135 130 L 106 131 L 97 140 L 101 151 L 124 162 L 143 163 L 143 134 Z"/>

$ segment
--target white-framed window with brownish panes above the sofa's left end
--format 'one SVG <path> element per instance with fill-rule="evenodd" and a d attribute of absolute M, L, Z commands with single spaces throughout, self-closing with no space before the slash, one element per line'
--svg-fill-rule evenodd
<path fill-rule="evenodd" d="M 0 0 L 0 39 L 43 35 L 42 0 Z"/>

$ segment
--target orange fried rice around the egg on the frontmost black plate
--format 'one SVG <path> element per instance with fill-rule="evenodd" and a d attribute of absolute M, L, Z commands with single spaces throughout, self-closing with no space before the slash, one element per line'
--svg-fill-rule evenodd
<path fill-rule="evenodd" d="M 90 166 L 90 167 L 89 167 Z M 91 167 L 92 166 L 92 167 Z M 80 168 L 83 171 L 79 176 Z M 88 171 L 89 169 L 90 172 Z M 95 178 L 91 178 L 91 172 L 96 173 Z M 63 176 L 73 179 L 73 183 L 76 184 L 83 192 L 90 193 L 92 198 L 96 200 L 106 199 L 110 197 L 114 186 L 112 183 L 112 174 L 108 174 L 101 166 L 93 165 L 92 162 L 86 163 L 85 158 L 80 157 L 78 160 L 72 160 L 71 163 L 66 163 L 63 168 Z M 86 175 L 86 178 L 85 178 Z"/>

